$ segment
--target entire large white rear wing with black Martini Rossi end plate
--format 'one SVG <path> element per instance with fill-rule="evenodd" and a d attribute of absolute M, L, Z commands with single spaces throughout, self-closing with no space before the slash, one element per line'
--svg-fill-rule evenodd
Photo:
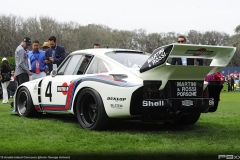
<path fill-rule="evenodd" d="M 139 71 L 132 71 L 143 80 L 161 80 L 162 87 L 168 80 L 204 80 L 208 73 L 226 67 L 235 54 L 235 47 L 171 44 L 157 48 Z M 209 66 L 170 65 L 169 58 L 185 57 L 212 59 Z"/>

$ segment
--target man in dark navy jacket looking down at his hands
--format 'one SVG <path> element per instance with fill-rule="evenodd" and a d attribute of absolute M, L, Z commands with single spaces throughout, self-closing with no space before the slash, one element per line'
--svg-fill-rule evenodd
<path fill-rule="evenodd" d="M 49 73 L 57 68 L 66 57 L 65 48 L 57 45 L 56 37 L 48 39 L 50 48 L 45 53 L 45 63 L 48 65 Z"/>

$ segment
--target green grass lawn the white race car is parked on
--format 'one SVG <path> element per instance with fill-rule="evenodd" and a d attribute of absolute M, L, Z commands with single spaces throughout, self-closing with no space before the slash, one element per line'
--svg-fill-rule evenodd
<path fill-rule="evenodd" d="M 223 91 L 218 110 L 202 114 L 193 126 L 124 121 L 113 130 L 101 132 L 82 129 L 72 115 L 21 118 L 10 112 L 9 105 L 0 104 L 0 159 L 1 156 L 2 159 L 57 156 L 58 159 L 197 160 L 237 156 L 240 155 L 239 104 L 240 92 Z"/>

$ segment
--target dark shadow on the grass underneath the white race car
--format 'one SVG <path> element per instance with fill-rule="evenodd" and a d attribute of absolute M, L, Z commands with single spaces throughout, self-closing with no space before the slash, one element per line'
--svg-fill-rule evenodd
<path fill-rule="evenodd" d="M 17 114 L 12 114 L 12 116 L 18 116 Z M 33 117 L 39 120 L 56 120 L 64 123 L 74 123 L 79 124 L 77 117 L 72 114 L 39 114 L 36 117 Z M 115 120 L 110 119 L 110 121 L 114 121 L 112 125 L 107 126 L 107 129 L 104 131 L 112 131 L 112 132 L 188 132 L 188 131 L 198 131 L 207 132 L 207 130 L 215 127 L 218 131 L 221 130 L 221 124 L 205 124 L 197 122 L 195 125 L 167 125 L 162 122 L 142 122 L 140 120 Z M 79 128 L 81 128 L 79 126 Z"/>

